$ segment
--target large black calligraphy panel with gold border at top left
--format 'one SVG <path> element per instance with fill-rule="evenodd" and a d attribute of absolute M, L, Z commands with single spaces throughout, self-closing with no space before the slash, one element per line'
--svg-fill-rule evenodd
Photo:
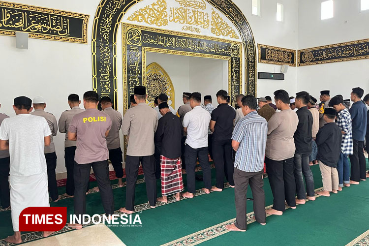
<path fill-rule="evenodd" d="M 89 15 L 0 1 L 0 34 L 87 43 Z"/>

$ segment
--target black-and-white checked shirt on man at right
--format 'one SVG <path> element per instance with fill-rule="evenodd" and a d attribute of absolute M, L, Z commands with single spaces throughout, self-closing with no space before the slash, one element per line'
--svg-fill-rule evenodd
<path fill-rule="evenodd" d="M 337 125 L 341 131 L 346 132 L 342 135 L 341 152 L 343 154 L 353 154 L 351 115 L 347 109 L 343 109 L 338 113 Z"/>

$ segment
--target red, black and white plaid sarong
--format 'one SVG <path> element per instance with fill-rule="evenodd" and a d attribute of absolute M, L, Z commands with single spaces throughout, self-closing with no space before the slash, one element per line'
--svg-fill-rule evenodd
<path fill-rule="evenodd" d="M 161 195 L 169 196 L 184 190 L 181 156 L 175 159 L 160 155 Z"/>

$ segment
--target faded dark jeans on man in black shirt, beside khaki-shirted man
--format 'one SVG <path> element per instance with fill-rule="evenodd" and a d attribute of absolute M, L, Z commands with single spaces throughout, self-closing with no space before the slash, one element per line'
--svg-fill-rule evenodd
<path fill-rule="evenodd" d="M 312 177 L 309 166 L 309 154 L 295 153 L 294 166 L 297 199 L 306 199 L 306 196 L 314 196 L 314 178 Z M 303 174 L 305 177 L 307 194 L 305 193 Z"/>

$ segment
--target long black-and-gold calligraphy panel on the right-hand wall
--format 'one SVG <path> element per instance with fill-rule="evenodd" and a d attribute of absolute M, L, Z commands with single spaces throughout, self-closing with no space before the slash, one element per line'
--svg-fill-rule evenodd
<path fill-rule="evenodd" d="M 299 66 L 368 58 L 369 39 L 320 46 L 298 51 Z"/>

